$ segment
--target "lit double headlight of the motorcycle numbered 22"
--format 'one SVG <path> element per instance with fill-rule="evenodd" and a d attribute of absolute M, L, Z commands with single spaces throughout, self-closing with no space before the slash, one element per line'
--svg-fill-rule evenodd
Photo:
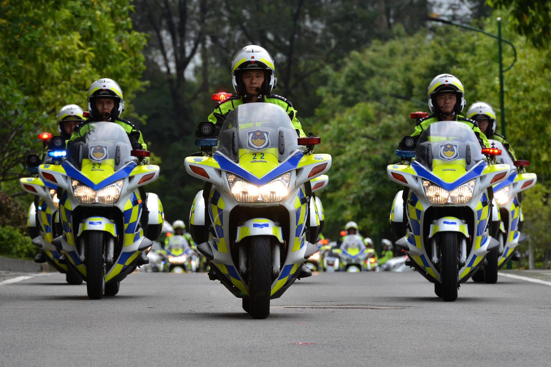
<path fill-rule="evenodd" d="M 233 173 L 228 173 L 227 178 L 231 194 L 239 202 L 255 202 L 258 200 L 276 202 L 282 201 L 287 195 L 291 174 L 289 172 L 284 173 L 261 187 L 253 185 Z"/>

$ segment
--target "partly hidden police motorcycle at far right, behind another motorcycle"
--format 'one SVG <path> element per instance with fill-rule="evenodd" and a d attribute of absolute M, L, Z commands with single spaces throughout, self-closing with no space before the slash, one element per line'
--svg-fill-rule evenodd
<path fill-rule="evenodd" d="M 513 161 L 500 141 L 489 140 L 489 143 L 501 151 L 501 154 L 496 156 L 496 161 L 511 167 L 509 177 L 493 187 L 494 199 L 499 206 L 500 214 L 499 229 L 493 237 L 499 241 L 499 246 L 490 251 L 487 256 L 487 264 L 484 264 L 482 269 L 473 275 L 475 282 L 494 284 L 498 281 L 498 270 L 511 259 L 517 245 L 528 239 L 521 232 L 523 224 L 520 206 L 521 193 L 536 184 L 537 175 L 536 173 L 525 173 L 525 167 L 529 166 L 530 162 Z"/>

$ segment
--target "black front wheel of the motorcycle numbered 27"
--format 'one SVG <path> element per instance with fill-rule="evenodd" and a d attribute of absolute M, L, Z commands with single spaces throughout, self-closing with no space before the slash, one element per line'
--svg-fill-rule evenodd
<path fill-rule="evenodd" d="M 105 294 L 104 232 L 86 231 L 86 289 L 90 299 Z"/>

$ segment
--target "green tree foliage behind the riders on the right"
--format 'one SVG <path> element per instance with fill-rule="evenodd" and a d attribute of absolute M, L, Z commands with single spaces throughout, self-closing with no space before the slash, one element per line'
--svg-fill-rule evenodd
<path fill-rule="evenodd" d="M 495 17 L 481 20 L 485 30 L 495 33 Z M 402 187 L 390 182 L 386 166 L 399 161 L 394 156 L 398 141 L 414 130 L 409 113 L 427 110 L 392 94 L 426 100 L 430 80 L 452 73 L 465 87 L 467 107 L 482 100 L 499 113 L 497 41 L 450 27 L 438 25 L 413 36 L 395 29 L 395 39 L 372 42 L 350 53 L 341 68 L 325 70 L 327 85 L 318 89 L 322 102 L 305 124 L 322 136 L 317 151 L 333 155 L 329 186 L 320 193 L 328 237 L 348 220 L 358 222 L 366 235 L 390 236 L 390 206 Z M 551 92 L 550 53 L 534 48 L 525 37 L 510 36 L 508 28 L 504 36 L 517 48 L 517 63 L 505 73 L 507 139 L 517 156 L 531 160 L 530 171 L 539 182 L 545 182 L 551 173 L 551 106 L 542 96 Z M 506 65 L 512 61 L 507 47 Z M 527 225 L 525 232 L 530 231 Z"/>

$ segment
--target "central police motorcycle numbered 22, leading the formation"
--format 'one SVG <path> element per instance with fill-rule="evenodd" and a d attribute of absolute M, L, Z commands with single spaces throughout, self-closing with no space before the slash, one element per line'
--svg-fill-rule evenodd
<path fill-rule="evenodd" d="M 199 124 L 196 145 L 216 145 L 209 138 L 214 128 Z M 330 155 L 314 154 L 319 143 L 297 138 L 280 106 L 247 103 L 226 117 L 214 153 L 204 149 L 206 156 L 186 158 L 186 171 L 206 182 L 190 212 L 197 250 L 255 319 L 269 315 L 270 300 L 281 297 L 318 251 L 310 180 L 331 167 Z"/>

